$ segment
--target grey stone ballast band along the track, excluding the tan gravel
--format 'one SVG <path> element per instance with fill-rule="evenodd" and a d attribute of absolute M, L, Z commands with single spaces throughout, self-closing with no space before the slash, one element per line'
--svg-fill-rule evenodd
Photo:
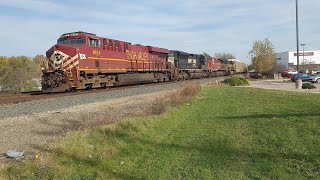
<path fill-rule="evenodd" d="M 202 85 L 208 84 L 208 82 L 223 79 L 210 78 L 202 80 L 193 80 L 192 82 L 199 81 Z M 21 115 L 29 115 L 32 113 L 43 113 L 48 111 L 59 111 L 61 109 L 69 108 L 72 106 L 90 104 L 95 102 L 104 102 L 121 97 L 136 96 L 141 94 L 150 94 L 155 92 L 170 91 L 181 87 L 185 82 L 170 83 L 170 84 L 157 84 L 157 85 L 141 85 L 135 88 L 98 92 L 90 94 L 82 94 L 76 96 L 64 96 L 54 99 L 41 99 L 30 102 L 8 104 L 0 106 L 0 121 L 3 118 L 17 117 Z"/>

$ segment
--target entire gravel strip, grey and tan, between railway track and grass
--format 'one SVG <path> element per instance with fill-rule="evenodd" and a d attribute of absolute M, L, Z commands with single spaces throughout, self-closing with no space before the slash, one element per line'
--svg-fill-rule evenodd
<path fill-rule="evenodd" d="M 188 81 L 209 82 L 224 77 Z M 128 116 L 144 115 L 158 98 L 182 87 L 186 82 L 142 85 L 116 91 L 41 99 L 0 106 L 0 152 L 18 150 L 26 157 L 70 131 L 113 123 Z M 10 162 L 0 157 L 0 167 Z"/>

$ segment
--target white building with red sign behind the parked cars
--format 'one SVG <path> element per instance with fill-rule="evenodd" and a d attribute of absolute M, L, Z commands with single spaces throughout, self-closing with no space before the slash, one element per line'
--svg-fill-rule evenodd
<path fill-rule="evenodd" d="M 277 64 L 286 69 L 296 70 L 297 51 L 276 53 Z M 320 50 L 300 51 L 299 70 L 320 70 Z"/>

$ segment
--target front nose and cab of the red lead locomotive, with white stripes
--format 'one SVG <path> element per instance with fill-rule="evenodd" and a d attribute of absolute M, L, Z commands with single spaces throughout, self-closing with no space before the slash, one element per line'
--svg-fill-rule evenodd
<path fill-rule="evenodd" d="M 79 49 L 88 46 L 88 36 L 95 34 L 75 32 L 60 36 L 57 44 L 47 52 L 47 67 L 43 70 L 42 90 L 43 91 L 68 91 L 77 86 L 77 67 L 80 59 L 85 55 L 79 53 Z"/>

